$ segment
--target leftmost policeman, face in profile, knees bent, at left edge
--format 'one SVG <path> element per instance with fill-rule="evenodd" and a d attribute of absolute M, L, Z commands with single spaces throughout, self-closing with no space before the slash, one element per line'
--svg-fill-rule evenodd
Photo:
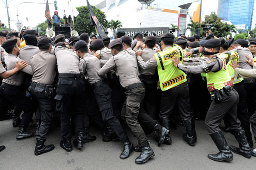
<path fill-rule="evenodd" d="M 21 60 L 18 57 L 20 49 L 17 45 L 17 39 L 6 40 L 6 42 L 2 44 L 2 47 L 8 53 L 5 59 L 7 71 L 12 70 L 15 67 L 15 62 Z M 1 86 L 4 97 L 24 111 L 16 137 L 17 139 L 34 135 L 34 132 L 26 131 L 34 113 L 34 104 L 29 98 L 27 98 L 25 89 L 23 88 L 24 73 L 32 75 L 33 72 L 30 65 L 27 65 L 21 71 L 22 72 L 15 73 L 12 77 L 4 79 Z"/>

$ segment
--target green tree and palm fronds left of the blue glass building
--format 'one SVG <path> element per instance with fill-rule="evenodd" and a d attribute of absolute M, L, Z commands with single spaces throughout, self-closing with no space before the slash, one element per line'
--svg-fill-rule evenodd
<path fill-rule="evenodd" d="M 206 16 L 204 22 L 202 24 L 214 24 L 214 29 L 212 33 L 216 37 L 226 37 L 230 35 L 232 32 L 236 32 L 236 27 L 234 25 L 229 25 L 228 23 L 223 23 L 221 18 L 216 15 L 215 12 L 212 12 L 210 16 Z M 205 36 L 205 32 L 200 32 L 201 36 Z"/>

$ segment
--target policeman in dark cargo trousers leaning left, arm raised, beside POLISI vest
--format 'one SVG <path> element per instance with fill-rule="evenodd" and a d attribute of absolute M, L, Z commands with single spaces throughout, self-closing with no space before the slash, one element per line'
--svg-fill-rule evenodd
<path fill-rule="evenodd" d="M 145 89 L 137 75 L 137 63 L 133 56 L 122 51 L 122 40 L 115 39 L 109 44 L 111 57 L 108 62 L 99 70 L 99 75 L 104 76 L 116 66 L 120 77 L 120 83 L 125 88 L 126 101 L 121 112 L 122 118 L 126 120 L 131 131 L 141 144 L 142 152 L 135 159 L 135 163 L 145 163 L 154 157 L 154 151 L 150 148 L 148 138 L 138 122 L 140 104 L 144 98 Z"/>

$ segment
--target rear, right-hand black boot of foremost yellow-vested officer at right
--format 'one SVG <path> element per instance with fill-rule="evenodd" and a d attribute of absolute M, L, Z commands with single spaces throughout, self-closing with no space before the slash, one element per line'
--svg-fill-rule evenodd
<path fill-rule="evenodd" d="M 239 143 L 239 148 L 231 145 L 229 146 L 230 150 L 232 150 L 237 154 L 243 155 L 243 157 L 250 158 L 251 148 L 245 136 L 245 132 L 243 130 L 235 130 L 234 134 L 235 134 L 236 140 Z"/>

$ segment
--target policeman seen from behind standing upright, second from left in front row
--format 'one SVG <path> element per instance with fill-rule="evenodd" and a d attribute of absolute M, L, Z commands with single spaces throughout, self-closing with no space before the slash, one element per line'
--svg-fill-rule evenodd
<path fill-rule="evenodd" d="M 28 88 L 32 98 L 39 106 L 41 113 L 41 123 L 36 136 L 35 155 L 51 151 L 54 145 L 44 145 L 46 136 L 50 130 L 50 124 L 54 118 L 54 78 L 57 70 L 57 60 L 54 54 L 49 52 L 52 49 L 51 39 L 41 38 L 37 45 L 40 52 L 34 55 L 30 64 L 33 71 L 33 77 L 30 87 Z M 25 47 L 24 47 L 25 48 Z"/>

